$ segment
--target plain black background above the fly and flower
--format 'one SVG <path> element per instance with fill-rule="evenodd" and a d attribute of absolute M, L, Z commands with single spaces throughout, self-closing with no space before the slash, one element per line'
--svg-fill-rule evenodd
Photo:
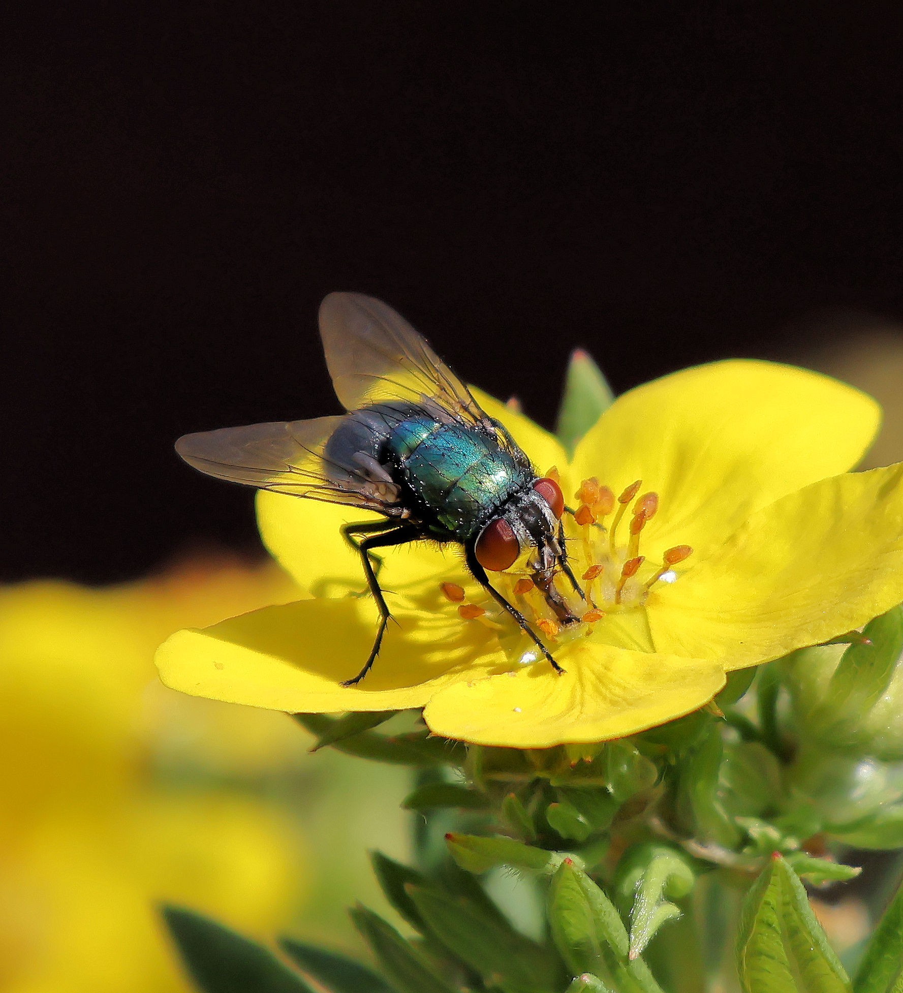
<path fill-rule="evenodd" d="M 252 548 L 249 492 L 172 442 L 338 412 L 330 290 L 546 424 L 577 345 L 621 390 L 903 319 L 895 8 L 23 5 L 0 578 Z"/>

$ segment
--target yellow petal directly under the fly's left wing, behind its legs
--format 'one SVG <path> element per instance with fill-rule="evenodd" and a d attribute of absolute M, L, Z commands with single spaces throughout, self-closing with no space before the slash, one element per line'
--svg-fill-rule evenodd
<path fill-rule="evenodd" d="M 341 527 L 351 521 L 383 519 L 381 514 L 338 503 L 266 491 L 257 494 L 257 526 L 263 543 L 313 597 L 347 597 L 367 589 L 361 555 L 342 537 Z M 385 563 L 380 583 L 387 589 L 440 579 L 460 582 L 464 574 L 452 553 L 431 542 L 385 548 L 378 555 Z"/>

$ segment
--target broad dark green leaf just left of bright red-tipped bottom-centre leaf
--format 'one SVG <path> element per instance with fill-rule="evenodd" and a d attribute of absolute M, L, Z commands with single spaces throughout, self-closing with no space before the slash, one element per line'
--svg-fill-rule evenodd
<path fill-rule="evenodd" d="M 505 993 L 552 993 L 555 963 L 543 948 L 510 924 L 467 899 L 435 889 L 408 887 L 429 929 L 448 950 Z"/>

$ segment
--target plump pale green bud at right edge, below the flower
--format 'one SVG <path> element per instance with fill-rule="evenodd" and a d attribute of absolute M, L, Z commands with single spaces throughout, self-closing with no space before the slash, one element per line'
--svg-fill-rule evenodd
<path fill-rule="evenodd" d="M 903 608 L 875 618 L 849 645 L 802 648 L 782 678 L 804 739 L 832 750 L 903 760 Z"/>

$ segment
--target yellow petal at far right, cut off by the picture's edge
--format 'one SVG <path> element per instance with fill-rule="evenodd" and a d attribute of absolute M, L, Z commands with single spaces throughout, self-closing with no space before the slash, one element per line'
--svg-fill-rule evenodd
<path fill-rule="evenodd" d="M 900 602 L 903 464 L 823 480 L 760 510 L 647 609 L 657 648 L 730 669 L 851 631 Z"/>

